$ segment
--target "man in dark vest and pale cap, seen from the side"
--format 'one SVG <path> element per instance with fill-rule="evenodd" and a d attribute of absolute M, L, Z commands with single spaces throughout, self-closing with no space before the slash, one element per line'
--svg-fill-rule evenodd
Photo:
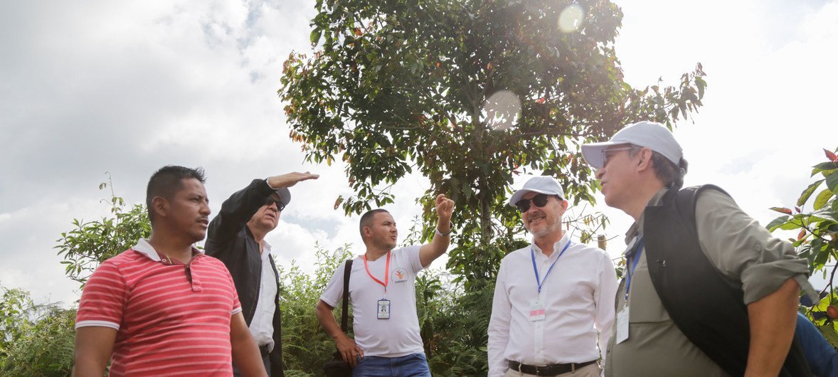
<path fill-rule="evenodd" d="M 669 129 L 640 121 L 582 146 L 605 203 L 634 218 L 606 376 L 810 375 L 793 343 L 807 263 L 712 185 L 681 189 Z"/>

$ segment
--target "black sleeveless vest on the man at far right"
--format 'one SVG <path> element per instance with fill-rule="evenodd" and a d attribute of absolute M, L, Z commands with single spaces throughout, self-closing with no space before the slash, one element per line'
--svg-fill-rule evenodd
<path fill-rule="evenodd" d="M 750 327 L 741 287 L 732 287 L 707 259 L 696 230 L 696 201 L 713 185 L 670 189 L 644 211 L 649 276 L 666 312 L 686 338 L 732 376 L 745 373 Z M 731 250 L 736 252 L 736 250 Z M 794 339 L 780 376 L 812 375 Z"/>

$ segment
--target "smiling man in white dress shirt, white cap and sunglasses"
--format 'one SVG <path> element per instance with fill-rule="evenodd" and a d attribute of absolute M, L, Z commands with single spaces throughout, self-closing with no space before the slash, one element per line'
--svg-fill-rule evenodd
<path fill-rule="evenodd" d="M 500 263 L 489 321 L 489 377 L 599 376 L 614 320 L 617 275 L 608 254 L 561 229 L 564 190 L 531 178 L 512 195 L 533 235 Z"/>

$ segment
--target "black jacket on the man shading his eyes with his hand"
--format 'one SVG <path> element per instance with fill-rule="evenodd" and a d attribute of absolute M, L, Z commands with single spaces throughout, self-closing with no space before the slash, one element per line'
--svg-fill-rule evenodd
<path fill-rule="evenodd" d="M 219 214 L 209 223 L 204 245 L 208 256 L 220 259 L 230 270 L 247 326 L 251 325 L 253 314 L 256 312 L 261 281 L 259 244 L 247 227 L 247 221 L 265 204 L 265 199 L 273 191 L 264 179 L 254 179 L 245 189 L 230 195 L 230 199 L 221 204 Z M 274 276 L 277 276 L 277 266 L 274 266 L 273 258 L 268 258 L 268 261 L 271 261 Z M 277 280 L 277 297 L 274 299 L 276 310 L 273 312 L 274 347 L 270 355 L 272 377 L 285 375 L 282 371 L 282 322 L 278 292 Z"/>

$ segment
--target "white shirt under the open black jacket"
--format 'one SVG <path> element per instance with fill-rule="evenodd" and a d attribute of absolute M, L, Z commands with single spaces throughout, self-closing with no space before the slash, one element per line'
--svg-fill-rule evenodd
<path fill-rule="evenodd" d="M 256 312 L 251 320 L 251 335 L 256 345 L 267 345 L 273 349 L 273 312 L 277 310 L 277 274 L 271 268 L 271 245 L 262 240 L 262 272 L 259 283 L 259 298 L 256 300 Z"/>

